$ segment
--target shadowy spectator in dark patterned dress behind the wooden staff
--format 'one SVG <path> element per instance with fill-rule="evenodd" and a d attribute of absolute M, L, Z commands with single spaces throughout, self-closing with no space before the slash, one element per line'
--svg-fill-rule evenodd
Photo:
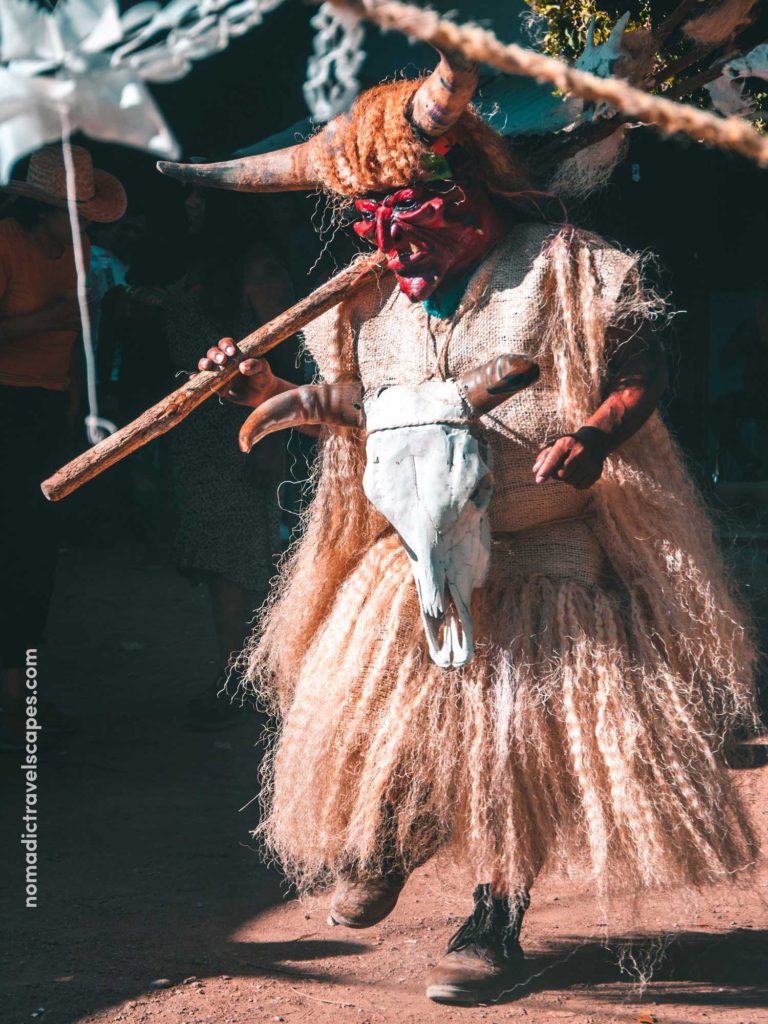
<path fill-rule="evenodd" d="M 164 303 L 177 371 L 195 372 L 199 357 L 222 336 L 242 338 L 292 302 L 282 264 L 243 229 L 240 202 L 199 188 L 187 194 L 190 261 Z M 282 377 L 296 376 L 295 357 L 290 343 L 269 353 Z M 219 645 L 216 678 L 190 702 L 190 724 L 198 728 L 226 725 L 238 715 L 216 694 L 225 689 L 231 654 L 266 597 L 280 551 L 283 442 L 275 435 L 244 456 L 238 432 L 249 412 L 211 398 L 168 437 L 176 560 L 185 575 L 207 586 Z"/>

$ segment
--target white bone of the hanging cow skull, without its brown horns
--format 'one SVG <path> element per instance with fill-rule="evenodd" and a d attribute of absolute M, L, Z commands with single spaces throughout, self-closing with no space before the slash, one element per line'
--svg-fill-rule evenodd
<path fill-rule="evenodd" d="M 490 559 L 489 453 L 455 381 L 384 388 L 364 408 L 362 486 L 411 559 L 432 660 L 465 665 L 474 653 L 472 594 Z"/>

